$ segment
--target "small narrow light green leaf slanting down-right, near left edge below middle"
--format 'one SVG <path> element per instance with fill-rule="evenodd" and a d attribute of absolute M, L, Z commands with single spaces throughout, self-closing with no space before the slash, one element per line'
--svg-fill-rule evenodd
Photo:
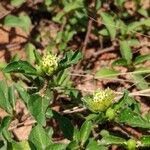
<path fill-rule="evenodd" d="M 27 93 L 27 91 L 23 88 L 23 86 L 21 86 L 21 83 L 18 82 L 15 84 L 15 88 L 18 91 L 19 96 L 21 97 L 21 99 L 28 104 L 28 101 L 30 99 L 30 95 Z"/>

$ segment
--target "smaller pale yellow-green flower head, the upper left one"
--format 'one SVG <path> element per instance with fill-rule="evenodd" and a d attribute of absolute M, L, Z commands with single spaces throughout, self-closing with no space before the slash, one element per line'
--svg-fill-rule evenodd
<path fill-rule="evenodd" d="M 58 57 L 51 53 L 45 54 L 42 57 L 40 65 L 38 66 L 38 71 L 42 75 L 51 76 L 54 71 L 58 68 Z"/>

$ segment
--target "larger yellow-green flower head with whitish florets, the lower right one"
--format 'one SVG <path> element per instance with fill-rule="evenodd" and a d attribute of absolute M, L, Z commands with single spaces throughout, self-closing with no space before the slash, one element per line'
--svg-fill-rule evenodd
<path fill-rule="evenodd" d="M 114 92 L 107 88 L 105 90 L 97 90 L 91 96 L 84 97 L 83 102 L 92 112 L 98 113 L 110 107 L 114 98 Z"/>

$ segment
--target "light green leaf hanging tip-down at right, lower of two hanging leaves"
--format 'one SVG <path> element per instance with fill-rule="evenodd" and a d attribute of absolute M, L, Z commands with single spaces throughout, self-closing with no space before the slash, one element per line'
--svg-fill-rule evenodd
<path fill-rule="evenodd" d="M 130 65 L 132 62 L 132 51 L 127 41 L 120 41 L 120 52 L 127 64 Z"/>

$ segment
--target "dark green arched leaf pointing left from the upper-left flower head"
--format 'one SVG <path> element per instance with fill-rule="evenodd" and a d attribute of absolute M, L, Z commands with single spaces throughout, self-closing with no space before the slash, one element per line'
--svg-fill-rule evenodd
<path fill-rule="evenodd" d="M 27 61 L 15 61 L 6 66 L 6 68 L 3 69 L 5 73 L 11 73 L 11 72 L 18 72 L 18 73 L 24 73 L 24 74 L 30 74 L 30 75 L 36 75 L 37 71 L 36 69 Z"/>

